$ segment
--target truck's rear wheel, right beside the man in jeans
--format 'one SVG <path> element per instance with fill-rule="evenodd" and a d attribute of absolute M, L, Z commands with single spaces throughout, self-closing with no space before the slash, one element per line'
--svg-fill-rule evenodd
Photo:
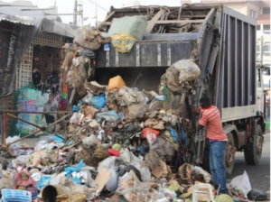
<path fill-rule="evenodd" d="M 232 133 L 228 133 L 228 143 L 227 143 L 227 148 L 226 148 L 226 154 L 225 154 L 225 170 L 226 170 L 226 175 L 227 177 L 230 177 L 231 172 L 234 167 L 234 158 L 235 158 L 235 142 L 233 138 Z"/>

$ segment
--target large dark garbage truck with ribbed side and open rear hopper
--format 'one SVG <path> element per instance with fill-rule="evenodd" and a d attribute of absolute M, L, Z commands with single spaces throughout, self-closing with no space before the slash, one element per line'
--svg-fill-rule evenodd
<path fill-rule="evenodd" d="M 191 123 L 185 161 L 209 169 L 209 141 L 205 130 L 197 129 L 199 99 L 208 93 L 220 109 L 229 139 L 227 174 L 234 168 L 236 152 L 244 152 L 249 165 L 258 164 L 265 120 L 262 69 L 256 60 L 256 20 L 225 5 L 111 7 L 99 30 L 108 32 L 113 19 L 136 15 L 147 17 L 143 39 L 126 53 L 112 44 L 98 50 L 96 80 L 106 84 L 120 75 L 126 86 L 155 91 L 174 62 L 192 60 L 200 67 L 201 76 L 189 90 L 174 94 L 173 106 Z"/>

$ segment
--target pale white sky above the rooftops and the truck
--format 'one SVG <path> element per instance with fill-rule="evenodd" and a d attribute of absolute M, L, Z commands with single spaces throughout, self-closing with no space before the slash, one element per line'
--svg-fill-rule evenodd
<path fill-rule="evenodd" d="M 13 2 L 14 0 L 3 0 L 4 2 Z M 19 0 L 20 1 L 20 0 Z M 16 1 L 17 3 L 19 2 Z M 59 14 L 72 14 L 74 0 L 31 0 L 34 5 L 37 5 L 39 8 L 46 8 L 51 5 L 56 5 L 58 7 Z M 96 2 L 98 3 L 97 13 L 105 13 L 109 11 L 110 6 L 114 7 L 123 7 L 126 3 L 126 0 L 78 0 L 78 3 L 83 5 L 83 18 L 94 17 L 96 15 Z M 168 5 L 168 6 L 179 6 L 180 0 L 139 0 L 140 5 Z M 93 4 L 94 3 L 94 4 Z M 18 3 L 19 4 L 19 3 Z M 102 9 L 102 8 L 104 9 Z M 106 11 L 107 10 L 107 11 Z M 79 17 L 80 19 L 80 17 Z M 61 20 L 63 23 L 70 23 L 73 21 L 72 15 L 61 15 Z"/>

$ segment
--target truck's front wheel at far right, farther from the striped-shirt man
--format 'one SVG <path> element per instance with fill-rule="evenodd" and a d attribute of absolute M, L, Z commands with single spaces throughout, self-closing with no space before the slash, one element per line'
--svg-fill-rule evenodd
<path fill-rule="evenodd" d="M 245 149 L 245 160 L 248 165 L 257 165 L 262 156 L 264 142 L 263 132 L 259 124 L 257 124 L 255 134 L 251 139 L 251 142 Z"/>

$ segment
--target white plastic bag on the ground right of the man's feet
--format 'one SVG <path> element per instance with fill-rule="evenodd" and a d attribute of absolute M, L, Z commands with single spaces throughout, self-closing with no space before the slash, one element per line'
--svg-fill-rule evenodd
<path fill-rule="evenodd" d="M 251 184 L 247 171 L 245 170 L 243 175 L 238 175 L 234 179 L 231 179 L 230 185 L 233 188 L 241 189 L 245 196 L 247 196 L 248 192 L 251 190 Z"/>

